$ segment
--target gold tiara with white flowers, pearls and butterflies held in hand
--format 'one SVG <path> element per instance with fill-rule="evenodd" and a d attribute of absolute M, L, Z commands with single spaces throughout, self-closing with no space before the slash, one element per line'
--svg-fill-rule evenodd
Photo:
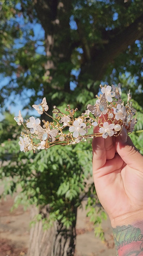
<path fill-rule="evenodd" d="M 53 107 L 53 116 L 48 114 L 48 105 L 44 97 L 39 105 L 32 105 L 37 112 L 42 115 L 45 113 L 50 121 L 34 118 L 33 116 L 23 122 L 21 111 L 19 116 L 14 117 L 18 125 L 23 125 L 25 132 L 21 132 L 20 150 L 29 151 L 36 149 L 47 149 L 55 145 L 70 145 L 80 141 L 86 141 L 93 137 L 119 136 L 123 127 L 128 133 L 134 130 L 137 122 L 136 110 L 132 107 L 131 93 L 129 91 L 127 103 L 121 99 L 121 85 L 112 84 L 100 85 L 101 93 L 96 95 L 97 100 L 94 105 L 88 104 L 87 110 L 81 116 L 74 118 L 78 110 L 67 105 L 66 113 L 60 111 L 56 106 Z M 133 116 L 135 117 L 133 118 Z M 98 127 L 98 133 L 93 133 L 93 127 Z"/>

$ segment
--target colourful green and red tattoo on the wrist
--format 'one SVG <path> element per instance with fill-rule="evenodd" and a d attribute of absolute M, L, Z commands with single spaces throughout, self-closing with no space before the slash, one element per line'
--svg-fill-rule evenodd
<path fill-rule="evenodd" d="M 143 221 L 113 228 L 116 256 L 143 256 Z"/>

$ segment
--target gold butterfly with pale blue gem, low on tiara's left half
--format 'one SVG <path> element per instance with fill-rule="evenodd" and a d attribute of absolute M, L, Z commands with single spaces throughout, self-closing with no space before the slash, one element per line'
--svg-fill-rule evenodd
<path fill-rule="evenodd" d="M 36 126 L 36 134 L 41 140 L 48 140 L 50 142 L 55 141 L 55 137 L 58 134 L 58 130 L 53 129 L 50 130 L 50 128 L 43 129 L 40 125 Z"/>

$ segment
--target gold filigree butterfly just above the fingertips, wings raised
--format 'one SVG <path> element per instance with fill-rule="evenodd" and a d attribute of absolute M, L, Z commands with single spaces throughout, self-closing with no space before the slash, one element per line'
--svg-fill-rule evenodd
<path fill-rule="evenodd" d="M 104 110 L 107 110 L 107 100 L 105 97 L 105 93 L 102 94 L 100 101 L 95 105 L 87 105 L 87 109 L 90 110 L 90 112 L 95 116 L 99 117 L 101 115 L 101 112 Z"/>

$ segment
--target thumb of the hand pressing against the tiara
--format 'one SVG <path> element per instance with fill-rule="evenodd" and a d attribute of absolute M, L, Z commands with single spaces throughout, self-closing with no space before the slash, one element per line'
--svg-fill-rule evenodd
<path fill-rule="evenodd" d="M 115 148 L 126 164 L 134 169 L 143 169 L 143 156 L 138 152 L 131 138 L 127 135 L 125 127 L 123 127 L 121 134 L 116 138 Z"/>

